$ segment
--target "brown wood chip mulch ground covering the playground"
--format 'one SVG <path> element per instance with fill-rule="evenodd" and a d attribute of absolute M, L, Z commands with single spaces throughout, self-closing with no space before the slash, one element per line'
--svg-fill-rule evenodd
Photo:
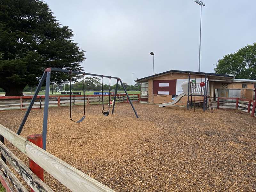
<path fill-rule="evenodd" d="M 50 108 L 47 151 L 116 191 L 256 190 L 256 119 L 238 110 L 117 104 L 115 115 L 86 106 L 86 119 L 69 120 L 69 108 Z M 25 111 L 0 112 L 17 131 Z M 83 107 L 73 107 L 74 119 Z M 32 110 L 22 136 L 41 133 L 43 110 Z M 15 148 L 7 143 L 14 151 Z M 15 154 L 28 164 L 27 157 Z M 68 191 L 45 173 L 54 191 Z"/>

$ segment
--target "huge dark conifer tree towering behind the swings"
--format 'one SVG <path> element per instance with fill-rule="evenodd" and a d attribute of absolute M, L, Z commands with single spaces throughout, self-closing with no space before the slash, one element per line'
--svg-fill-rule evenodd
<path fill-rule="evenodd" d="M 0 0 L 0 87 L 5 95 L 23 95 L 24 87 L 36 86 L 48 67 L 82 71 L 84 51 L 72 37 L 43 1 Z M 68 78 L 52 72 L 51 82 Z"/>

